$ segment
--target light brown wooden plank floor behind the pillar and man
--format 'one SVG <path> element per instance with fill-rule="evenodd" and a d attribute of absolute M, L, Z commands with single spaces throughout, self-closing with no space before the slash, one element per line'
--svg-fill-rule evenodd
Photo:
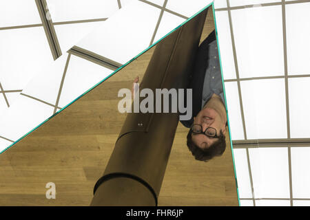
<path fill-rule="evenodd" d="M 202 39 L 214 29 L 209 11 Z M 125 114 L 118 89 L 132 87 L 154 48 L 90 91 L 0 155 L 0 206 L 88 206 L 114 148 Z M 178 125 L 158 198 L 159 206 L 238 206 L 229 136 L 222 157 L 198 162 L 186 146 L 188 129 Z M 56 184 L 46 199 L 45 184 Z"/>

